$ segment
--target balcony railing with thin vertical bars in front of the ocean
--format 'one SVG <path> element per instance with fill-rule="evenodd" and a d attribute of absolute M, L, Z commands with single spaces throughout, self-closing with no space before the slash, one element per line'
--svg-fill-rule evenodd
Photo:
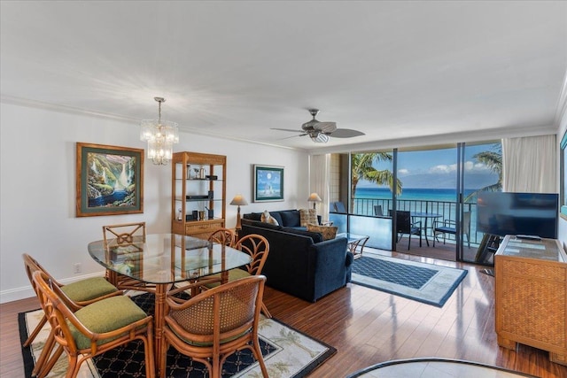
<path fill-rule="evenodd" d="M 434 200 L 416 200 L 416 199 L 399 199 L 397 202 L 398 210 L 408 212 L 433 212 L 439 214 L 440 217 L 435 220 L 442 222 L 444 220 L 455 220 L 456 216 L 456 203 L 451 201 L 434 201 Z M 377 199 L 377 198 L 354 198 L 353 200 L 353 214 L 375 216 L 374 206 L 382 206 L 384 216 L 388 216 L 388 210 L 392 209 L 392 199 Z M 477 204 L 466 203 L 463 204 L 464 212 L 470 212 L 470 244 L 478 246 L 484 235 L 477 232 Z M 428 228 L 425 230 L 428 237 L 433 237 L 433 220 L 429 220 Z M 454 238 L 449 238 L 453 240 Z M 465 239 L 466 241 L 466 239 Z"/>

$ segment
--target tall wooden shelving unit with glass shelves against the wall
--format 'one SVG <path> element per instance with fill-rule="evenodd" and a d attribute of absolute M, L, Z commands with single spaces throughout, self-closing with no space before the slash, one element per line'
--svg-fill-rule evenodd
<path fill-rule="evenodd" d="M 227 158 L 175 152 L 172 159 L 171 230 L 206 239 L 225 227 Z"/>

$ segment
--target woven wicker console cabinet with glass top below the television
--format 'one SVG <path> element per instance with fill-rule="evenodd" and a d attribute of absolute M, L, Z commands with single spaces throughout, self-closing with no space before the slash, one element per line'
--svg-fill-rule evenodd
<path fill-rule="evenodd" d="M 561 244 L 507 235 L 494 268 L 498 344 L 530 345 L 567 365 L 567 255 Z"/>

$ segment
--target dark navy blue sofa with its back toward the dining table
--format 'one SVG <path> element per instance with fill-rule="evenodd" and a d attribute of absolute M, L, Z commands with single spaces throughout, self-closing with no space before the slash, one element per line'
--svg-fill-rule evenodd
<path fill-rule="evenodd" d="M 322 241 L 321 234 L 297 227 L 245 218 L 239 235 L 259 234 L 268 239 L 269 253 L 262 274 L 269 287 L 315 302 L 351 281 L 353 254 L 346 251 L 345 237 Z"/>

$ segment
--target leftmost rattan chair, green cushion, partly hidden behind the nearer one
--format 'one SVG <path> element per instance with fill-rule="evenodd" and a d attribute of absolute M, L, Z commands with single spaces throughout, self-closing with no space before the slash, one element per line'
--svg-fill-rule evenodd
<path fill-rule="evenodd" d="M 51 286 L 57 286 L 63 293 L 66 294 L 66 305 L 71 308 L 72 311 L 77 311 L 78 309 L 97 302 L 101 299 L 120 296 L 123 294 L 122 291 L 116 289 L 110 282 L 107 282 L 104 277 L 90 277 L 81 281 L 71 282 L 63 285 L 57 282 L 57 280 L 55 280 L 55 278 L 53 278 L 53 276 L 51 276 L 47 272 L 47 270 L 45 270 L 45 268 L 43 268 L 43 266 L 39 262 L 37 262 L 35 258 L 32 258 L 27 253 L 22 254 L 22 258 L 24 259 L 24 267 L 26 269 L 27 278 L 32 284 L 32 288 L 35 289 L 33 282 L 34 273 L 43 272 L 43 274 L 49 277 Z M 37 295 L 37 297 L 39 298 L 39 293 L 35 292 L 35 295 Z M 42 319 L 37 323 L 37 326 L 27 337 L 26 342 L 23 343 L 24 347 L 28 347 L 34 342 L 35 337 L 37 337 L 37 335 L 40 333 L 46 322 L 47 318 L 45 317 L 45 314 L 43 314 Z M 53 349 L 54 343 L 55 339 L 53 338 L 53 333 L 51 332 L 45 340 L 43 350 L 40 353 L 37 362 L 35 363 L 32 375 L 35 376 L 39 374 L 40 370 L 45 364 L 45 361 L 49 357 L 50 352 Z M 49 373 L 49 371 L 44 372 L 44 374 L 47 373 Z"/>

